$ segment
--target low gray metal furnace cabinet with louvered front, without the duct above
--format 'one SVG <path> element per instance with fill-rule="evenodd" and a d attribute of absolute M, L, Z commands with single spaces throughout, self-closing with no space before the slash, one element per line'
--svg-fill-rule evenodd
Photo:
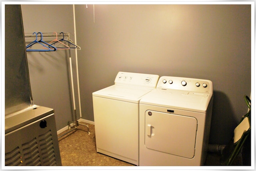
<path fill-rule="evenodd" d="M 54 110 L 34 107 L 5 117 L 6 166 L 62 165 Z"/>

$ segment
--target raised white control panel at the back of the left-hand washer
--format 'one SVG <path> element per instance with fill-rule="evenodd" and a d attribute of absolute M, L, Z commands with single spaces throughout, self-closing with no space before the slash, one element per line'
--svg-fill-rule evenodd
<path fill-rule="evenodd" d="M 118 72 L 115 85 L 154 89 L 156 88 L 158 79 L 158 75 Z"/>

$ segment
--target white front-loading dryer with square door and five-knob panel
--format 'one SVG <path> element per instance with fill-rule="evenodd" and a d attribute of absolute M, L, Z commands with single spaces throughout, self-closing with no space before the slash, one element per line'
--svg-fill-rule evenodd
<path fill-rule="evenodd" d="M 160 77 L 140 100 L 140 166 L 200 166 L 208 148 L 209 80 Z"/>

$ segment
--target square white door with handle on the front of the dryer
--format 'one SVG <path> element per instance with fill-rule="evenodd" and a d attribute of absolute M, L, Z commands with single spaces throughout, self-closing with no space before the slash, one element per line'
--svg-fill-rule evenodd
<path fill-rule="evenodd" d="M 193 158 L 195 154 L 197 120 L 147 110 L 145 113 L 145 146 L 148 149 Z"/>

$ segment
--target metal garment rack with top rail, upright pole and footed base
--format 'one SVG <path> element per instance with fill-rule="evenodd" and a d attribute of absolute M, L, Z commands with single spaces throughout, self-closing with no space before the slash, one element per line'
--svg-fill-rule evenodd
<path fill-rule="evenodd" d="M 57 34 L 60 34 L 60 33 L 57 33 Z M 54 33 L 42 33 L 43 37 L 56 37 L 56 34 Z M 63 34 L 64 36 L 68 36 L 69 33 L 64 33 Z M 33 33 L 25 33 L 24 37 L 36 37 L 36 35 L 33 35 Z M 68 121 L 68 129 L 69 131 L 68 132 L 65 132 L 64 134 L 58 136 L 58 138 L 68 134 L 69 132 L 73 131 L 73 130 L 76 130 L 79 126 L 79 122 L 76 118 L 76 101 L 75 101 L 75 94 L 74 94 L 74 81 L 73 81 L 73 72 L 72 72 L 72 60 L 71 60 L 71 53 L 70 53 L 70 49 L 69 49 L 69 63 L 70 63 L 70 76 L 71 76 L 71 85 L 72 85 L 72 96 L 73 96 L 73 107 L 74 107 L 74 118 L 75 118 L 75 121 Z M 81 108 L 80 108 L 81 110 Z M 81 116 L 80 116 L 81 118 Z M 70 124 L 75 124 L 75 127 L 71 129 L 71 126 Z M 87 131 L 87 134 L 90 135 L 90 130 L 89 130 L 89 126 L 86 125 L 86 124 L 80 124 L 82 126 L 86 126 L 88 128 L 88 131 Z"/>

